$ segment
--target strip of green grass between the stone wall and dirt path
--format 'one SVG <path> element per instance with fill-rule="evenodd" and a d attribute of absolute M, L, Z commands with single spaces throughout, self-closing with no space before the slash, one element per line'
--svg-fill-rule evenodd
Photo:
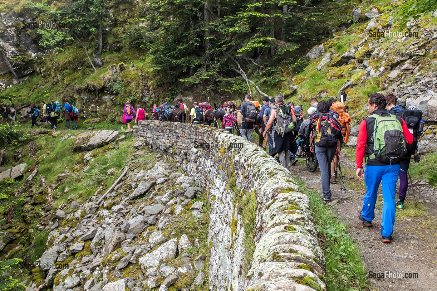
<path fill-rule="evenodd" d="M 367 270 L 361 259 L 361 250 L 347 234 L 342 224 L 327 207 L 316 190 L 309 190 L 298 177 L 294 177 L 302 193 L 310 200 L 310 210 L 322 237 L 326 256 L 326 279 L 328 291 L 368 290 Z"/>

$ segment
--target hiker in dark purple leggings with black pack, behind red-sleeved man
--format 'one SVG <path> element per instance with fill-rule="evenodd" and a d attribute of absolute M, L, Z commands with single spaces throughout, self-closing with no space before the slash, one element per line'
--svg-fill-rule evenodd
<path fill-rule="evenodd" d="M 385 95 L 385 101 L 387 105 L 385 109 L 388 113 L 401 117 L 404 121 L 408 120 L 407 127 L 411 129 L 413 133 L 413 143 L 407 145 L 407 152 L 402 157 L 399 163 L 399 196 L 396 201 L 396 209 L 404 209 L 405 196 L 408 190 L 408 169 L 411 161 L 411 156 L 414 157 L 414 162 L 419 162 L 419 154 L 417 152 L 417 142 L 419 141 L 422 132 L 419 131 L 419 123 L 422 119 L 422 112 L 417 110 L 417 107 L 412 105 L 405 109 L 402 105 L 398 104 L 398 98 L 393 94 Z"/>

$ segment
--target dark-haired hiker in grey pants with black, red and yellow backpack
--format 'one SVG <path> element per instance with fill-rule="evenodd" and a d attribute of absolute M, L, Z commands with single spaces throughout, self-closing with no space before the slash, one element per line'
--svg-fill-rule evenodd
<path fill-rule="evenodd" d="M 323 200 L 331 201 L 332 192 L 329 187 L 331 176 L 331 163 L 334 155 L 340 156 L 341 125 L 329 114 L 329 102 L 322 100 L 317 104 L 319 114 L 311 118 L 310 150 L 316 153 L 322 179 Z"/>

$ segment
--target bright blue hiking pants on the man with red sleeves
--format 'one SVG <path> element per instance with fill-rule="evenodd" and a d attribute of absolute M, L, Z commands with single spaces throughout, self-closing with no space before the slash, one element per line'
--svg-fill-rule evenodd
<path fill-rule="evenodd" d="M 375 218 L 375 203 L 378 195 L 379 184 L 382 182 L 384 204 L 382 206 L 381 235 L 391 236 L 395 224 L 395 192 L 399 177 L 399 165 L 366 166 L 364 181 L 367 192 L 364 195 L 363 214 L 365 220 Z"/>

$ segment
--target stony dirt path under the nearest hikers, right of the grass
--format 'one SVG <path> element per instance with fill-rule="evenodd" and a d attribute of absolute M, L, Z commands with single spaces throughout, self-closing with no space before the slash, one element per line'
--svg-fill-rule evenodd
<path fill-rule="evenodd" d="M 361 210 L 365 185 L 355 179 L 354 154 L 349 149 L 340 159 L 347 194 L 340 194 L 340 184 L 331 185 L 333 197 L 330 206 L 349 228 L 348 232 L 359 242 L 363 251 L 363 260 L 367 271 L 385 275 L 391 272 L 402 278 L 384 277 L 371 279 L 370 284 L 376 290 L 437 290 L 437 191 L 427 184 L 415 184 L 418 208 L 414 207 L 413 194 L 409 187 L 405 201 L 405 210 L 396 211 L 395 229 L 391 244 L 380 240 L 382 213 L 382 194 L 378 195 L 375 219 L 372 228 L 364 228 L 357 218 Z M 321 192 L 320 171 L 310 173 L 305 159 L 292 167 L 309 188 Z M 396 194 L 397 197 L 397 194 Z M 417 273 L 416 278 L 404 278 L 406 273 Z M 376 276 L 376 275 L 375 275 Z"/>

